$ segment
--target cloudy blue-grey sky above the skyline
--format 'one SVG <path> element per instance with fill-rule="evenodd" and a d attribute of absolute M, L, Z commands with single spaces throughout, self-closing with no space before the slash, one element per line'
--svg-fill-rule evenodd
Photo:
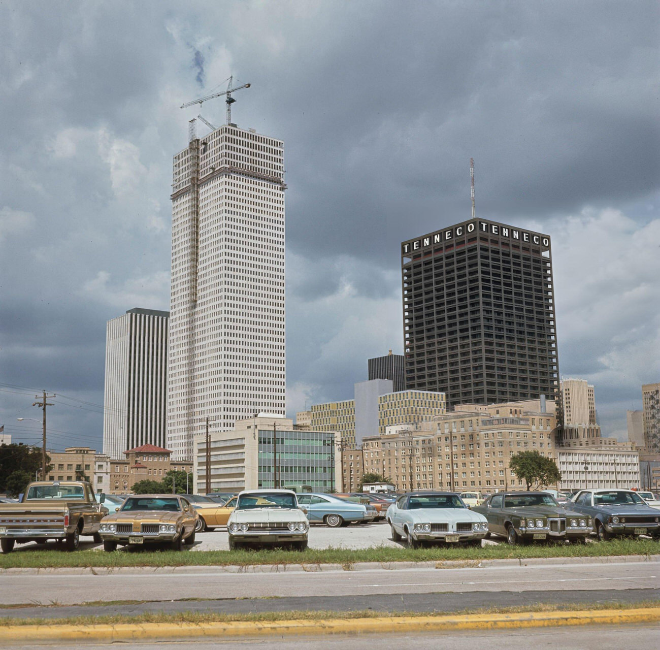
<path fill-rule="evenodd" d="M 477 215 L 552 236 L 560 370 L 624 438 L 660 381 L 659 7 L 0 1 L 5 432 L 46 389 L 51 446 L 101 448 L 106 321 L 169 308 L 179 107 L 234 75 L 286 146 L 291 416 L 403 351 L 399 244 L 469 218 L 473 157 Z"/>

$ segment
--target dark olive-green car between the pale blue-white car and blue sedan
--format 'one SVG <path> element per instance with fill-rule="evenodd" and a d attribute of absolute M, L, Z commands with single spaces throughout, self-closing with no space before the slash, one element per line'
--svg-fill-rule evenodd
<path fill-rule="evenodd" d="M 473 508 L 488 519 L 488 533 L 510 544 L 533 540 L 585 542 L 593 520 L 573 508 L 564 509 L 547 492 L 499 492 Z"/>

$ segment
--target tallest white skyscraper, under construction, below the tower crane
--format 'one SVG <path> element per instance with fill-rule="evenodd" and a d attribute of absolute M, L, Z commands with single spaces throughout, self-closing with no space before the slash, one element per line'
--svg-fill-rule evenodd
<path fill-rule="evenodd" d="M 193 131 L 191 129 L 191 131 Z M 167 447 L 284 415 L 284 143 L 223 125 L 174 156 Z"/>

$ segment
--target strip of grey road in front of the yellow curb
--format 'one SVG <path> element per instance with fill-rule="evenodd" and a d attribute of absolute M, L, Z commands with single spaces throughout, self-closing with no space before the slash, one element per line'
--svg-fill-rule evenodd
<path fill-rule="evenodd" d="M 562 650 L 620 650 L 620 648 L 657 647 L 658 631 L 655 625 L 589 626 L 585 628 L 527 628 L 523 630 L 488 630 L 469 632 L 433 632 L 418 634 L 364 634 L 259 637 L 250 639 L 225 638 L 206 641 L 173 641 L 172 643 L 121 643 L 123 650 L 162 650 L 176 647 L 177 650 L 215 650 L 216 648 L 239 648 L 259 645 L 260 650 L 400 650 L 414 647 L 416 650 L 511 650 L 512 648 L 561 648 Z M 5 645 L 4 650 L 69 650 L 66 643 L 16 643 Z M 76 650 L 101 650 L 107 643 L 76 643 Z"/>

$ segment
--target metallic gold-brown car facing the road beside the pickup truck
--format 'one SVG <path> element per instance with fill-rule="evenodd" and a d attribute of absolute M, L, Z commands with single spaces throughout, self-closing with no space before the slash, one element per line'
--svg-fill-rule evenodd
<path fill-rule="evenodd" d="M 181 550 L 195 543 L 197 511 L 176 494 L 129 496 L 114 515 L 101 521 L 99 533 L 108 552 L 123 546 L 170 544 Z"/>

